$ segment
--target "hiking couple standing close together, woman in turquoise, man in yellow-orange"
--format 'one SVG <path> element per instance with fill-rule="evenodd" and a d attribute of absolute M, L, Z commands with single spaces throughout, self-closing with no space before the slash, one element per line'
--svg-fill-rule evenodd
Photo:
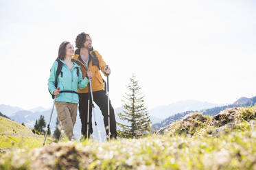
<path fill-rule="evenodd" d="M 79 115 L 82 123 L 82 136 L 89 138 L 93 133 L 92 127 L 92 101 L 89 94 L 89 79 L 93 90 L 93 100 L 100 107 L 104 117 L 106 134 L 108 134 L 108 97 L 104 90 L 104 81 L 100 71 L 106 76 L 110 69 L 104 62 L 100 53 L 92 47 L 89 34 L 82 32 L 75 38 L 75 51 L 70 42 L 61 43 L 58 58 L 51 67 L 48 80 L 49 92 L 56 97 L 56 110 L 58 120 L 61 121 L 65 136 L 71 140 L 73 127 L 79 104 Z M 59 75 L 56 72 L 62 64 Z M 57 82 L 56 82 L 57 81 Z M 89 104 L 89 136 L 87 136 L 87 110 Z M 61 134 L 60 138 L 63 138 Z M 110 104 L 110 138 L 117 138 L 114 109 Z"/>

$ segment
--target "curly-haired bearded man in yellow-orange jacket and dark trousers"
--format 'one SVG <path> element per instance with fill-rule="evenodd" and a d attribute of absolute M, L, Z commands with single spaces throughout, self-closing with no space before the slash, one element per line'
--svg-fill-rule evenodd
<path fill-rule="evenodd" d="M 75 39 L 75 56 L 73 59 L 80 64 L 83 77 L 86 75 L 87 69 L 93 73 L 93 78 L 91 80 L 91 87 L 93 90 L 93 100 L 97 106 L 100 107 L 102 115 L 104 117 L 104 125 L 106 134 L 108 135 L 108 97 L 106 96 L 106 91 L 104 90 L 104 82 L 102 80 L 102 75 L 100 71 L 106 76 L 110 75 L 110 69 L 104 62 L 102 56 L 99 52 L 95 51 L 92 46 L 91 37 L 89 34 L 82 32 Z M 88 111 L 88 97 L 89 97 L 89 87 L 78 89 L 79 93 L 79 112 L 80 119 L 82 123 L 82 135 L 87 138 L 87 111 Z M 91 97 L 90 97 L 91 102 Z M 115 113 L 111 104 L 110 106 L 110 138 L 117 138 L 117 128 L 115 121 Z M 91 104 L 89 107 L 89 136 L 93 133 L 93 127 L 91 123 Z M 89 137 L 88 136 L 88 137 Z M 108 136 L 109 137 L 109 136 Z"/>

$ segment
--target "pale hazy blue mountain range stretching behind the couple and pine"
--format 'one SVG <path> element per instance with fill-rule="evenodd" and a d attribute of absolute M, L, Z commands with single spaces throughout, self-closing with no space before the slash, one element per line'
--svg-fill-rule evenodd
<path fill-rule="evenodd" d="M 166 119 L 167 117 L 170 117 L 174 114 L 177 114 L 178 112 L 184 112 L 187 110 L 201 110 L 201 109 L 207 109 L 207 108 L 213 108 L 215 106 L 218 106 L 217 104 L 210 104 L 208 102 L 202 102 L 202 101 L 196 101 L 196 100 L 187 100 L 187 101 L 178 101 L 173 104 L 167 105 L 167 106 L 158 106 L 156 108 L 153 108 L 152 110 L 149 110 L 150 114 L 150 120 L 152 121 L 152 124 L 160 123 L 163 121 L 163 119 Z M 122 112 L 123 108 L 115 108 L 115 118 L 116 121 L 119 123 L 125 123 L 124 121 L 121 121 L 119 119 L 119 116 L 117 113 Z M 39 119 L 40 115 L 43 115 L 45 117 L 45 121 L 48 124 L 49 117 L 51 114 L 51 108 L 45 109 L 42 107 L 33 108 L 31 110 L 23 110 L 19 107 L 13 107 L 13 106 L 7 106 L 7 105 L 0 105 L 0 112 L 2 114 L 5 114 L 6 116 L 10 117 L 10 119 L 19 122 L 19 123 L 25 123 L 27 127 L 33 128 L 34 123 L 36 119 Z M 95 131 L 94 123 L 93 123 L 93 136 L 96 138 L 100 138 L 104 140 L 106 133 L 104 130 L 104 123 L 103 123 L 103 116 L 100 112 L 100 108 L 95 106 L 95 114 L 96 121 L 97 121 L 97 129 L 100 131 L 100 135 L 97 134 Z M 51 119 L 50 128 L 51 132 L 54 132 L 54 129 L 56 127 L 56 110 L 54 109 L 54 114 Z M 94 122 L 94 120 L 93 120 Z M 77 116 L 77 121 L 75 123 L 74 127 L 74 135 L 75 138 L 80 138 L 80 130 L 81 130 L 81 122 L 79 118 L 79 112 Z"/>

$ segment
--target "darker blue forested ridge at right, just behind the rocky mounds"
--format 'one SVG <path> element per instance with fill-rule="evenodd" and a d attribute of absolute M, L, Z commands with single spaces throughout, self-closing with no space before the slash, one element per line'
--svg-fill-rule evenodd
<path fill-rule="evenodd" d="M 230 105 L 209 108 L 206 110 L 190 110 L 187 112 L 180 112 L 178 114 L 174 114 L 171 117 L 168 117 L 167 119 L 164 119 L 163 121 L 161 121 L 161 123 L 154 123 L 152 125 L 152 128 L 154 130 L 159 130 L 161 127 L 170 125 L 174 121 L 183 119 L 185 115 L 191 112 L 202 112 L 202 114 L 205 114 L 205 115 L 215 116 L 216 114 L 218 114 L 222 110 L 225 110 L 226 108 L 233 108 L 233 107 L 240 107 L 240 106 L 254 106 L 255 104 L 256 104 L 256 97 L 253 97 L 253 98 L 241 97 L 240 99 L 238 99 L 237 101 L 235 101 L 233 104 L 230 104 Z"/>

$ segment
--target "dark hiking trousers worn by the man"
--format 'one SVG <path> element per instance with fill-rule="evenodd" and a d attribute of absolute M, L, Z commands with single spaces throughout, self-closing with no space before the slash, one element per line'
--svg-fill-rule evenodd
<path fill-rule="evenodd" d="M 91 96 L 91 95 L 90 95 Z M 104 90 L 93 92 L 93 100 L 97 106 L 100 107 L 102 111 L 102 115 L 104 117 L 104 125 L 106 134 L 108 134 L 108 97 Z M 115 112 L 109 101 L 110 106 L 110 138 L 117 138 L 117 125 L 115 122 Z M 80 93 L 79 94 L 79 116 L 82 123 L 82 135 L 87 138 L 87 110 L 88 110 L 88 93 Z M 90 105 L 89 105 L 89 137 L 93 133 L 93 127 L 91 122 L 92 117 L 92 102 L 90 97 Z"/>

